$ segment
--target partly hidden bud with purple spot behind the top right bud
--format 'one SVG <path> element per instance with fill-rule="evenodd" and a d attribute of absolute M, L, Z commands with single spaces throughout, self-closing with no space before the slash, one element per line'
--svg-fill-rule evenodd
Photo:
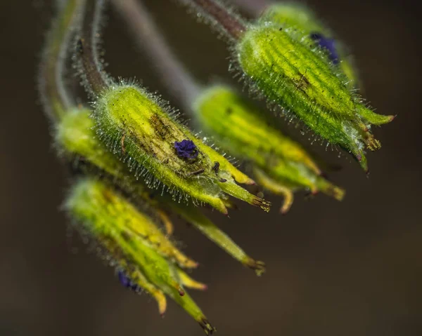
<path fill-rule="evenodd" d="M 314 48 L 321 48 L 329 61 L 340 67 L 347 76 L 347 87 L 357 87 L 357 71 L 353 59 L 347 49 L 335 39 L 331 29 L 326 27 L 316 17 L 314 12 L 303 4 L 271 4 L 266 8 L 260 20 L 280 24 L 282 27 L 298 29 L 302 34 L 307 34 L 314 41 Z"/>

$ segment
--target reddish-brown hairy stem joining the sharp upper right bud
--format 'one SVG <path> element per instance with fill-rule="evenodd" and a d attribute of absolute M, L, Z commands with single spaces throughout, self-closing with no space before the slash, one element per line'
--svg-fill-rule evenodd
<path fill-rule="evenodd" d="M 216 25 L 230 39 L 239 39 L 246 30 L 243 20 L 218 0 L 179 0 L 199 11 L 212 24 Z"/>

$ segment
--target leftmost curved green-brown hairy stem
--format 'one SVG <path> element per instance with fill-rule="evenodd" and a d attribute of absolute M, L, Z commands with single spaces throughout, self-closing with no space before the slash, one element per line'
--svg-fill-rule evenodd
<path fill-rule="evenodd" d="M 39 92 L 46 114 L 52 121 L 61 119 L 73 102 L 65 88 L 64 63 L 72 25 L 81 0 L 70 0 L 60 9 L 46 42 L 39 67 Z"/>

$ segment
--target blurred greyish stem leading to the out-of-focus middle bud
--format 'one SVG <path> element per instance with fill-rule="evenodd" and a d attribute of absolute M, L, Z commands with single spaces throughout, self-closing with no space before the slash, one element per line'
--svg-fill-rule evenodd
<path fill-rule="evenodd" d="M 174 57 L 145 6 L 137 0 L 113 0 L 112 3 L 136 36 L 139 46 L 155 62 L 162 83 L 174 98 L 181 100 L 184 109 L 188 109 L 198 93 L 198 84 Z"/>

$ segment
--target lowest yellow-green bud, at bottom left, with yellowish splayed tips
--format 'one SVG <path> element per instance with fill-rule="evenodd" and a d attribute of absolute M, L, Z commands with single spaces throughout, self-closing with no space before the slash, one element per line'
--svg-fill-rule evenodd
<path fill-rule="evenodd" d="M 124 269 L 139 285 L 145 285 L 139 276 L 143 274 L 147 283 L 172 297 L 207 334 L 214 331 L 185 292 L 177 267 L 167 258 L 181 253 L 175 253 L 176 248 L 168 253 L 160 247 L 161 243 L 166 246 L 172 246 L 172 243 L 163 235 L 164 238 L 159 238 L 158 229 L 152 229 L 155 224 L 151 218 L 106 184 L 95 180 L 78 182 L 68 197 L 66 208 L 82 223 L 84 230 L 108 250 L 118 269 Z M 157 293 L 160 297 L 160 292 Z M 159 302 L 162 310 L 161 297 Z"/>

